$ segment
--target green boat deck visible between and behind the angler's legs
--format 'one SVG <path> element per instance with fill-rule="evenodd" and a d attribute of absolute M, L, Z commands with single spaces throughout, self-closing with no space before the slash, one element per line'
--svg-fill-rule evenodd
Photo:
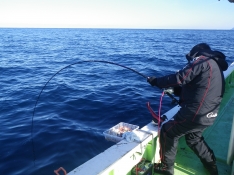
<path fill-rule="evenodd" d="M 207 144 L 214 151 L 220 175 L 230 175 L 227 153 L 234 116 L 234 73 L 226 79 L 226 90 L 215 123 L 204 131 Z M 207 175 L 199 158 L 186 145 L 184 137 L 179 141 L 175 161 L 175 175 Z M 155 173 L 156 175 L 156 173 Z"/>

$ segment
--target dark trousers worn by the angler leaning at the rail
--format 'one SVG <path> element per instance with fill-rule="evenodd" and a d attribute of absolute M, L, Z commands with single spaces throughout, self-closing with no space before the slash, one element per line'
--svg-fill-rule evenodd
<path fill-rule="evenodd" d="M 202 162 L 214 161 L 214 153 L 205 142 L 202 132 L 208 126 L 195 124 L 186 119 L 176 119 L 165 123 L 160 131 L 161 162 L 168 167 L 174 166 L 178 140 L 185 136 L 187 145 Z"/>

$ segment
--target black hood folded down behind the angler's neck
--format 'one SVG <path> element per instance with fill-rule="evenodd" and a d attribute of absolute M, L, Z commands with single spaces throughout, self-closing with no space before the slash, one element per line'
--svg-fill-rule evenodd
<path fill-rule="evenodd" d="M 219 52 L 219 51 L 202 50 L 200 52 L 195 53 L 194 55 L 187 54 L 186 58 L 188 61 L 191 61 L 195 57 L 198 57 L 201 55 L 212 58 L 213 60 L 215 60 L 217 62 L 217 64 L 219 65 L 219 67 L 222 69 L 222 71 L 227 70 L 228 63 L 226 62 L 226 56 L 222 52 Z"/>

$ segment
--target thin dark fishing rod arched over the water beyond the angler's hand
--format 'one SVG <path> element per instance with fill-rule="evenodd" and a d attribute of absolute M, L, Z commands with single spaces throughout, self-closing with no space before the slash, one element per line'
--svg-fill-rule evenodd
<path fill-rule="evenodd" d="M 107 63 L 107 64 L 112 64 L 112 65 L 120 66 L 120 67 L 123 67 L 123 68 L 125 68 L 125 69 L 131 70 L 132 72 L 137 73 L 138 75 L 142 76 L 142 77 L 145 78 L 145 79 L 148 78 L 146 75 L 144 75 L 144 74 L 142 74 L 142 73 L 140 73 L 140 72 L 138 72 L 138 71 L 136 71 L 136 70 L 134 70 L 134 69 L 132 69 L 132 68 L 129 68 L 129 67 L 127 67 L 127 66 L 123 66 L 123 65 L 121 65 L 121 64 L 114 63 L 114 62 L 110 62 L 110 61 L 101 61 L 101 60 L 100 60 L 100 61 L 99 61 L 99 60 L 78 61 L 78 62 L 69 64 L 69 65 L 63 67 L 62 69 L 60 69 L 59 71 L 57 71 L 55 74 L 53 74 L 53 75 L 50 77 L 50 79 L 45 83 L 45 85 L 43 86 L 43 88 L 41 89 L 41 91 L 40 91 L 40 93 L 39 93 L 39 95 L 38 95 L 38 97 L 37 97 L 36 103 L 35 103 L 35 105 L 34 105 L 34 108 L 33 108 L 32 122 L 31 122 L 31 141 L 32 141 L 34 165 L 35 165 L 35 160 L 36 160 L 36 158 L 35 158 L 35 150 L 34 150 L 34 142 L 33 142 L 33 125 L 34 125 L 34 124 L 33 124 L 33 119 L 34 119 L 34 115 L 35 115 L 35 109 L 36 109 L 37 103 L 38 103 L 38 101 L 39 101 L 39 99 L 40 99 L 40 96 L 41 96 L 43 90 L 45 89 L 45 87 L 47 86 L 47 84 L 48 84 L 59 72 L 61 72 L 62 70 L 66 69 L 66 68 L 68 68 L 68 67 L 71 67 L 71 66 L 73 66 L 73 65 L 81 64 L 81 63 L 85 63 L 85 62 Z"/>

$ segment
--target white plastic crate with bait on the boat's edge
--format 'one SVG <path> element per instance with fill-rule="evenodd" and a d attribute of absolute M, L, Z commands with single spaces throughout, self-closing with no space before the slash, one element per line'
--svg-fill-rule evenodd
<path fill-rule="evenodd" d="M 124 139 L 123 134 L 125 132 L 133 131 L 138 129 L 139 126 L 132 125 L 129 123 L 120 122 L 119 124 L 113 126 L 112 128 L 103 132 L 106 140 L 119 142 Z"/>

